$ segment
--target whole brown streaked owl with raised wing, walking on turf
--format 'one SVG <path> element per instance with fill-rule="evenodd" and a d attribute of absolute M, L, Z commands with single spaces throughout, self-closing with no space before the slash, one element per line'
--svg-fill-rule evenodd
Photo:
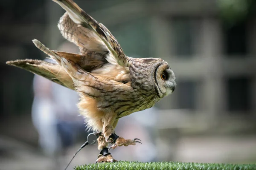
<path fill-rule="evenodd" d="M 114 129 L 120 118 L 151 108 L 175 90 L 175 74 L 159 58 L 132 58 L 124 54 L 111 32 L 72 0 L 53 0 L 67 12 L 58 28 L 79 54 L 54 51 L 38 40 L 37 48 L 57 63 L 23 59 L 6 62 L 41 75 L 78 92 L 78 108 L 87 126 L 98 134 L 96 162 L 113 162 L 109 148 L 135 145 L 140 139 L 124 139 Z M 108 144 L 112 146 L 108 148 Z"/>

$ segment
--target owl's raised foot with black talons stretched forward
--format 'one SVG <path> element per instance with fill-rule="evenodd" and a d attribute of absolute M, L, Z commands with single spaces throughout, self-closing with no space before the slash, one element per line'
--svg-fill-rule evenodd
<path fill-rule="evenodd" d="M 111 143 L 113 144 L 111 147 L 109 147 L 108 150 L 110 150 L 111 148 L 112 149 L 115 149 L 116 147 L 118 146 L 128 146 L 128 145 L 135 145 L 136 143 L 141 143 L 141 140 L 138 139 L 138 138 L 135 138 L 135 139 L 124 139 L 122 137 L 119 137 L 116 135 L 116 133 L 112 134 L 110 137 L 109 137 Z M 139 140 L 139 141 L 137 141 Z"/>

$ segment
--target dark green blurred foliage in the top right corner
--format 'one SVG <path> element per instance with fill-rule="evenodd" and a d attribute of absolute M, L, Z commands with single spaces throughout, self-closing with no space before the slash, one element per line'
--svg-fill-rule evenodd
<path fill-rule="evenodd" d="M 255 0 L 217 0 L 217 5 L 224 22 L 233 26 L 250 14 L 255 2 Z"/>

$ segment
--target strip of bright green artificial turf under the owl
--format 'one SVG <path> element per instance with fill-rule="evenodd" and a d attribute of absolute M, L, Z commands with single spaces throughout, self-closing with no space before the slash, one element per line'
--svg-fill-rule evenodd
<path fill-rule="evenodd" d="M 203 164 L 185 162 L 132 162 L 86 164 L 76 170 L 256 170 L 256 164 Z"/>

